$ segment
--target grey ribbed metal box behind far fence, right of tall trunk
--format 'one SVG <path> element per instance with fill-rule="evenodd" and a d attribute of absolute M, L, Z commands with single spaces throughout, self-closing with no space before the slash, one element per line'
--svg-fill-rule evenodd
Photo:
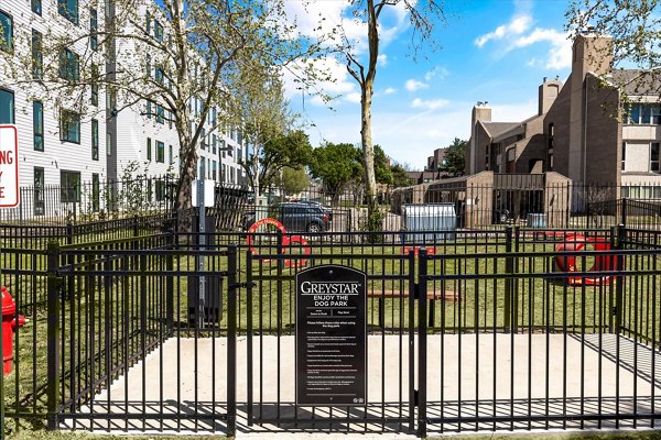
<path fill-rule="evenodd" d="M 411 244 L 433 244 L 454 239 L 457 216 L 454 204 L 404 205 L 402 241 Z"/>

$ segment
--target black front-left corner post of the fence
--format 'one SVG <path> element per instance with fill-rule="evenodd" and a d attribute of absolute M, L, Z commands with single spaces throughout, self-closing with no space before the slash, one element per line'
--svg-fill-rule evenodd
<path fill-rule="evenodd" d="M 57 395 L 59 385 L 59 307 L 62 278 L 57 275 L 59 270 L 59 243 L 48 242 L 47 245 L 47 359 L 46 359 L 46 405 L 48 430 L 57 429 Z"/>

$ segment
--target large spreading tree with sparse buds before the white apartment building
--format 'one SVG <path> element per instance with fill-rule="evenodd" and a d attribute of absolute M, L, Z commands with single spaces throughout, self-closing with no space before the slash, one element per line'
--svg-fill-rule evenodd
<path fill-rule="evenodd" d="M 17 30 L 13 53 L 0 51 L 8 59 L 6 77 L 42 100 L 66 102 L 90 117 L 105 113 L 111 120 L 126 108 L 149 116 L 154 109 L 156 118 L 173 123 L 180 143 L 180 210 L 191 206 L 197 145 L 213 130 L 242 122 L 229 118 L 228 103 L 246 86 L 236 79 L 263 81 L 261 75 L 236 73 L 258 64 L 271 72 L 292 67 L 293 59 L 318 50 L 283 24 L 282 0 L 110 0 L 100 13 L 98 3 L 76 4 L 75 21 L 89 26 L 65 33 L 53 28 L 37 40 L 30 29 Z M 99 22 L 98 15 L 106 20 Z M 96 44 L 87 44 L 93 40 Z M 108 110 L 88 105 L 90 89 L 107 94 Z"/>

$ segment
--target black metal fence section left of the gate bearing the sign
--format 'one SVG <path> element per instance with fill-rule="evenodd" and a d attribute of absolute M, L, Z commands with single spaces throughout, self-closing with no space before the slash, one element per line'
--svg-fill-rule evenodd
<path fill-rule="evenodd" d="M 51 428 L 234 435 L 236 246 L 50 249 Z"/>

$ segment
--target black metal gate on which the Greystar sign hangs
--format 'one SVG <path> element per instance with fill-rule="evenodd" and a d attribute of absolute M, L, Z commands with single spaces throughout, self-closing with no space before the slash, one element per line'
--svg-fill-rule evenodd
<path fill-rule="evenodd" d="M 311 248 L 308 254 L 297 255 L 248 251 L 248 289 L 239 301 L 246 307 L 239 316 L 246 319 L 247 334 L 245 344 L 239 342 L 238 346 L 238 359 L 246 359 L 247 364 L 246 375 L 238 381 L 246 381 L 249 429 L 414 431 L 413 253 L 329 255 L 321 245 Z M 328 267 L 330 273 L 367 274 L 359 275 L 365 276 L 365 297 L 345 297 L 348 304 L 343 304 L 343 309 L 333 302 L 342 297 L 323 295 L 333 290 L 311 290 L 315 282 L 310 274 Z M 319 295 L 300 296 L 304 300 L 297 305 L 296 282 L 302 283 L 300 290 Z M 328 326 L 354 326 L 355 331 L 339 339 L 330 338 L 323 329 L 315 332 L 323 326 L 312 328 L 311 322 L 316 320 L 318 324 L 319 314 Z M 361 319 L 366 329 L 362 341 Z M 319 369 L 326 375 L 321 382 L 313 377 Z"/>

